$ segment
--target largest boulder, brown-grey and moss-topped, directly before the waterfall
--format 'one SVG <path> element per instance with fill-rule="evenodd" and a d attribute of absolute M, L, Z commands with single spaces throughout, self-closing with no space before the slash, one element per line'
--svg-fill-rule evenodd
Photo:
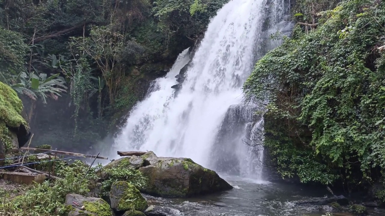
<path fill-rule="evenodd" d="M 233 188 L 216 172 L 194 163 L 189 158 L 157 157 L 152 151 L 141 157 L 147 166 L 139 170 L 148 179 L 147 186 L 142 189 L 143 193 L 189 197 Z"/>

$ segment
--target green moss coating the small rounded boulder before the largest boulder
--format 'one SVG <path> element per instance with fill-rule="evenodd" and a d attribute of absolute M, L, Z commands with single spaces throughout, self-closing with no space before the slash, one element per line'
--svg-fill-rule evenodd
<path fill-rule="evenodd" d="M 140 191 L 134 185 L 126 181 L 117 181 L 112 188 L 123 190 L 123 194 L 119 199 L 117 209 L 128 210 L 135 209 L 144 211 L 147 208 L 147 201 L 144 199 Z"/>

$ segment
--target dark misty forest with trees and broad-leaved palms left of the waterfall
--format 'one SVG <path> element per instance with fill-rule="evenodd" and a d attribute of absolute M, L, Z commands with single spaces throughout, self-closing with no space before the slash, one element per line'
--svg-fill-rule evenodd
<path fill-rule="evenodd" d="M 22 98 L 35 143 L 88 148 L 226 1 L 2 0 L 0 81 Z"/>

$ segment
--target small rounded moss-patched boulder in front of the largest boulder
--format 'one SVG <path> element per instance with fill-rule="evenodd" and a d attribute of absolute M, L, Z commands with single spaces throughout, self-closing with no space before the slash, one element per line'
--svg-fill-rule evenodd
<path fill-rule="evenodd" d="M 144 211 L 147 201 L 134 185 L 126 181 L 117 181 L 111 186 L 111 207 L 115 211 Z"/>

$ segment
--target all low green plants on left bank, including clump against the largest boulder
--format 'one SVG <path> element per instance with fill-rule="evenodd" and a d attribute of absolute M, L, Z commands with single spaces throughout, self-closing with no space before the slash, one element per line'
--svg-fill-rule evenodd
<path fill-rule="evenodd" d="M 42 165 L 43 164 L 43 165 Z M 89 168 L 82 161 L 68 164 L 57 161 L 56 166 L 49 163 L 40 164 L 40 169 L 50 170 L 60 179 L 44 181 L 42 184 L 23 185 L 14 190 L 0 189 L 0 214 L 5 216 L 52 216 L 67 215 L 69 208 L 64 205 L 65 195 L 76 193 L 87 196 L 90 191 L 99 188 L 99 193 L 108 199 L 111 185 L 116 181 L 128 181 L 134 186 L 145 186 L 146 179 L 141 172 L 133 168 L 115 167 L 103 169 L 105 177 L 102 186 L 97 186 L 98 169 L 101 166 Z M 50 169 L 49 169 L 50 168 Z M 106 195 L 108 194 L 108 195 Z M 15 196 L 18 195 L 18 196 Z M 66 214 L 67 213 L 67 214 Z"/>

